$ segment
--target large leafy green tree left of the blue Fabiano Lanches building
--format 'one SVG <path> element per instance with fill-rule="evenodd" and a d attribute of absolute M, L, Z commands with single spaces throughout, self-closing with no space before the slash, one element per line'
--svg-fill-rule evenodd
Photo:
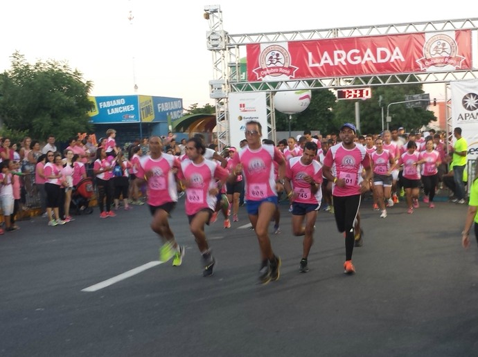
<path fill-rule="evenodd" d="M 91 131 L 88 99 L 92 82 L 67 63 L 48 60 L 28 64 L 12 55 L 12 67 L 0 75 L 0 118 L 3 129 L 44 140 L 52 134 L 67 140 Z"/>

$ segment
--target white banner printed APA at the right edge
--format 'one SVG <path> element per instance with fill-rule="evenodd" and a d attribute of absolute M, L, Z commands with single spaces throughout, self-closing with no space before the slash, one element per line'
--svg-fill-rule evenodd
<path fill-rule="evenodd" d="M 452 125 L 468 143 L 468 160 L 478 158 L 478 80 L 450 82 Z"/>

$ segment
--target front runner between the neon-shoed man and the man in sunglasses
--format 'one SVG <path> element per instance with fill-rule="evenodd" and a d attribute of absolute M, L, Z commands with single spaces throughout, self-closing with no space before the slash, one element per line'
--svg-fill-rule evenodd
<path fill-rule="evenodd" d="M 229 174 L 224 167 L 215 161 L 204 158 L 206 147 L 200 138 L 190 138 L 186 142 L 188 159 L 182 161 L 178 177 L 186 187 L 186 214 L 189 228 L 195 237 L 197 248 L 202 254 L 204 271 L 202 275 L 213 275 L 215 259 L 209 248 L 204 232 L 204 226 L 209 220 L 218 203 L 218 184 L 225 183 Z"/>

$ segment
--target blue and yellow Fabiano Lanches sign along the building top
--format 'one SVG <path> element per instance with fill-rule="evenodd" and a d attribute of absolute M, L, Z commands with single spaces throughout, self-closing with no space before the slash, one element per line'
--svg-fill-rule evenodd
<path fill-rule="evenodd" d="M 181 98 L 150 95 L 89 97 L 94 109 L 89 112 L 94 124 L 125 122 L 172 122 L 183 116 Z"/>

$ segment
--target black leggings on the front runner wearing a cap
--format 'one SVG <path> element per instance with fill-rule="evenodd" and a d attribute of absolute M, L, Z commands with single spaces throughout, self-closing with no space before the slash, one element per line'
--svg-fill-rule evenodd
<path fill-rule="evenodd" d="M 355 244 L 355 219 L 360 208 L 360 194 L 353 196 L 333 196 L 335 223 L 339 232 L 345 232 L 345 260 L 352 259 Z"/>

